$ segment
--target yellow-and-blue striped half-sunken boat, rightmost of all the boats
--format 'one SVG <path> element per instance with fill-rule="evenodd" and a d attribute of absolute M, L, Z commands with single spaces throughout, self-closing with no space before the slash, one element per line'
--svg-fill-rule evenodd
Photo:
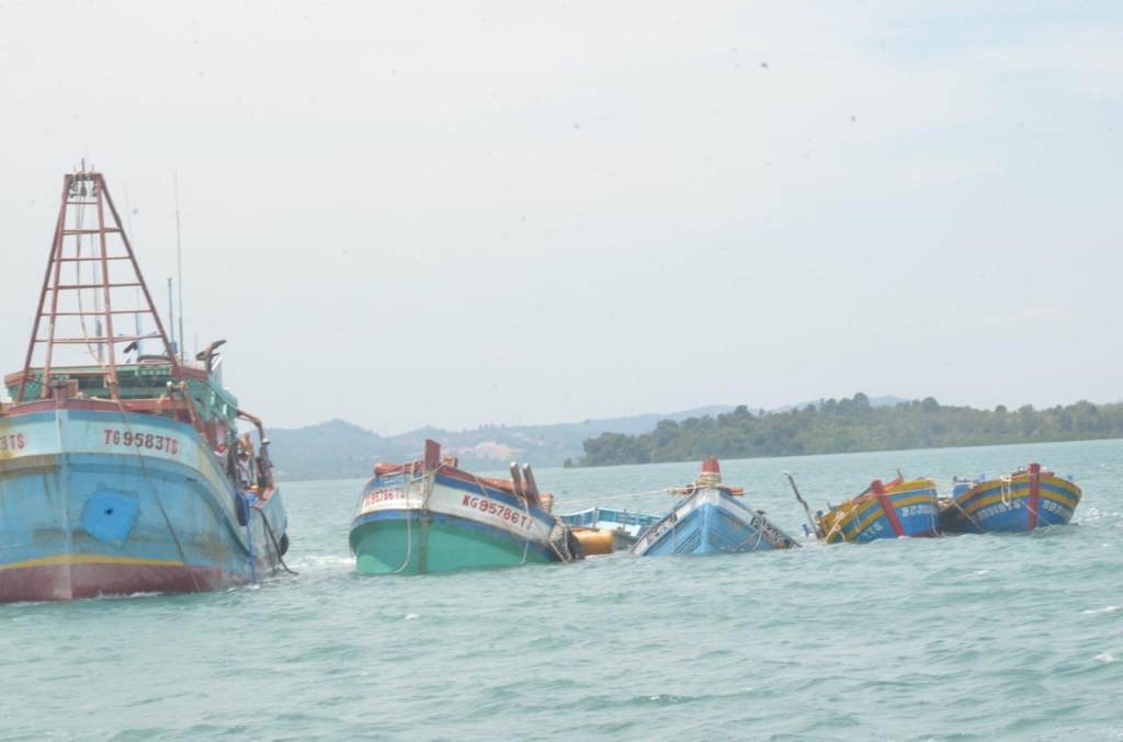
<path fill-rule="evenodd" d="M 983 479 L 980 477 L 980 479 Z M 1024 532 L 1072 520 L 1080 488 L 1040 464 L 997 479 L 957 483 L 941 502 L 944 533 Z"/>

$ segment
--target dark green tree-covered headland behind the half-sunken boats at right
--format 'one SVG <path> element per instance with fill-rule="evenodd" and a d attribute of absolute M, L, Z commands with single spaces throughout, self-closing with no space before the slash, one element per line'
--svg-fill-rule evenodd
<path fill-rule="evenodd" d="M 932 397 L 873 406 L 858 393 L 783 412 L 754 414 L 741 405 L 716 416 L 664 420 L 638 436 L 603 433 L 566 466 L 656 464 L 719 458 L 853 454 L 1123 437 L 1123 403 L 1015 411 L 941 405 Z"/>

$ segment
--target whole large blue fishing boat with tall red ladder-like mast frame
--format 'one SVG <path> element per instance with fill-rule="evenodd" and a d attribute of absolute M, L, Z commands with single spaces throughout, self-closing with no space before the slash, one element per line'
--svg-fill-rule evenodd
<path fill-rule="evenodd" d="M 268 439 L 222 386 L 220 345 L 176 351 L 103 177 L 66 175 L 0 404 L 0 601 L 214 590 L 283 566 Z"/>

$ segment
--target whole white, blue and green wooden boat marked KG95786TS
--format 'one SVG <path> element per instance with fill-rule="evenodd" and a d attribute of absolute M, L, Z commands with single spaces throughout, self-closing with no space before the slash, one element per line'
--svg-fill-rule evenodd
<path fill-rule="evenodd" d="M 510 479 L 480 477 L 427 440 L 420 460 L 375 465 L 350 524 L 355 568 L 419 575 L 581 559 L 549 500 L 529 465 L 520 476 L 512 464 Z"/>

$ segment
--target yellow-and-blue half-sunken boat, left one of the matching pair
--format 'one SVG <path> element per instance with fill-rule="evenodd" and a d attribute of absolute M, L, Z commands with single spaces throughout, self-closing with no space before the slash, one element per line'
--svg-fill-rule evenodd
<path fill-rule="evenodd" d="M 875 479 L 860 495 L 820 513 L 818 533 L 828 543 L 938 535 L 938 500 L 931 479 Z"/>

